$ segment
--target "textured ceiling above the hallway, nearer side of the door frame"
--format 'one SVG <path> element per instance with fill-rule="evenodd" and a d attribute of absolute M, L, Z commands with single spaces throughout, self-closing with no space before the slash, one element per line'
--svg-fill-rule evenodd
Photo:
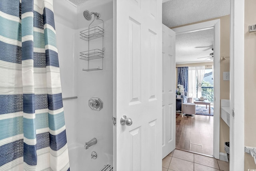
<path fill-rule="evenodd" d="M 162 22 L 168 27 L 230 14 L 230 0 L 170 0 L 162 4 Z"/>

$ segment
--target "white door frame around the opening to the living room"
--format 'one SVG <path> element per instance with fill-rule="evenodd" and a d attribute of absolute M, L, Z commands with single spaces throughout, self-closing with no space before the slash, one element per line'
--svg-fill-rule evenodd
<path fill-rule="evenodd" d="M 172 29 L 176 34 L 184 34 L 214 28 L 214 132 L 213 155 L 220 159 L 220 19 L 192 24 Z"/>

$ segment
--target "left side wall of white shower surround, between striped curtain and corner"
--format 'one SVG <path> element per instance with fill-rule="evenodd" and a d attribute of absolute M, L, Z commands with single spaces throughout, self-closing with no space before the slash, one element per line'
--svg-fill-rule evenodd
<path fill-rule="evenodd" d="M 77 57 L 74 56 L 76 20 L 71 18 L 76 18 L 76 7 L 65 0 L 54 0 L 53 5 L 62 97 L 73 97 L 77 96 L 74 70 Z M 68 146 L 76 141 L 76 103 L 77 99 L 63 101 Z"/>

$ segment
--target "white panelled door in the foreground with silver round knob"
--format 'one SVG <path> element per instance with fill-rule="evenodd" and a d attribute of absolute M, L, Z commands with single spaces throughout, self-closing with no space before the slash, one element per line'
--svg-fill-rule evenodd
<path fill-rule="evenodd" d="M 161 171 L 162 0 L 114 0 L 114 12 L 114 169 Z"/>

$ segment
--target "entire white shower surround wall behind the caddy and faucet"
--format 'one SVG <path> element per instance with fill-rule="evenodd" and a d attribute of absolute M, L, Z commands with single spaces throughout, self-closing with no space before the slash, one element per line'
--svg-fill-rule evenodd
<path fill-rule="evenodd" d="M 99 12 L 100 19 L 104 20 L 105 52 L 102 71 L 82 71 L 87 68 L 87 61 L 80 60 L 79 55 L 88 50 L 88 42 L 80 39 L 79 34 L 92 22 L 84 19 L 84 10 Z M 86 166 L 84 170 L 98 171 L 107 163 L 113 164 L 113 2 L 90 0 L 76 8 L 65 0 L 54 0 L 54 14 L 62 97 L 78 96 L 78 99 L 63 101 L 68 148 L 83 147 L 85 142 L 95 137 L 98 143 L 82 150 L 85 158 L 79 164 Z M 92 25 L 99 23 L 96 21 Z M 102 38 L 90 41 L 90 47 L 101 49 Z M 94 62 L 101 65 L 102 60 Z M 91 97 L 99 97 L 104 103 L 103 109 L 90 109 L 88 100 Z M 98 154 L 96 160 L 91 159 L 92 151 Z M 103 159 L 106 154 L 110 157 Z"/>

